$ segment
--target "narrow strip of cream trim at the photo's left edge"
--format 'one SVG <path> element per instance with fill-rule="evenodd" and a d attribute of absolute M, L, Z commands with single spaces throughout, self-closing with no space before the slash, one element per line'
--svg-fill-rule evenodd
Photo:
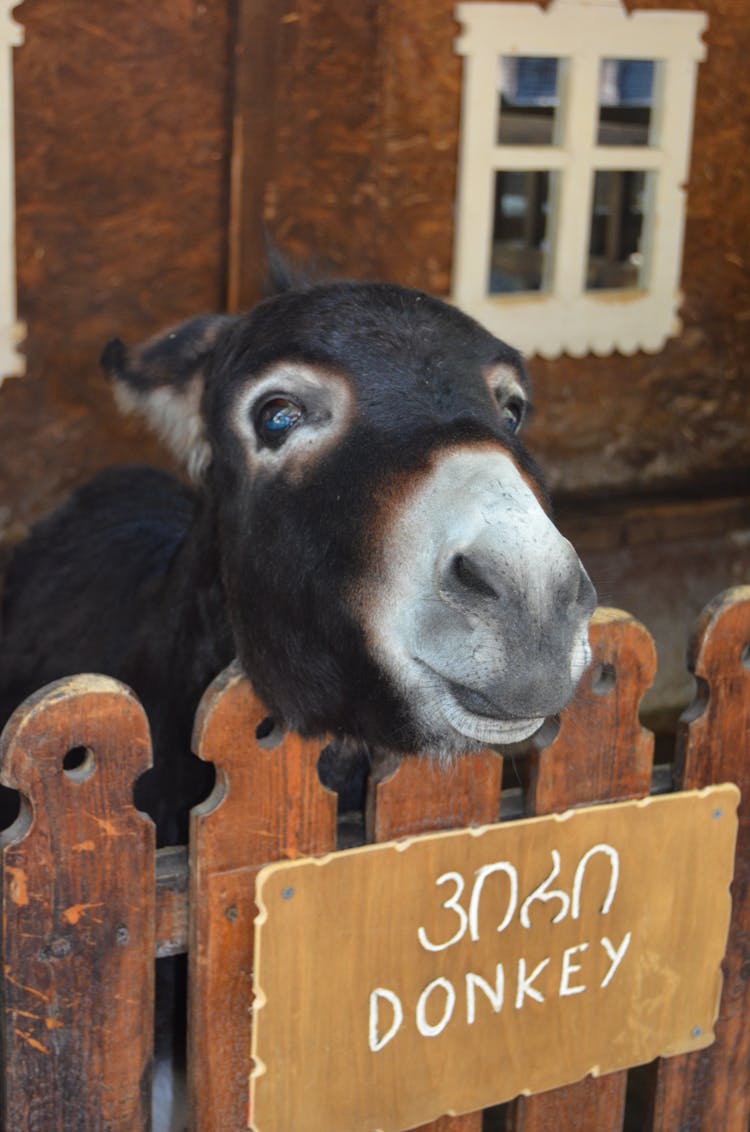
<path fill-rule="evenodd" d="M 26 328 L 16 311 L 16 207 L 14 154 L 12 49 L 24 42 L 24 29 L 12 18 L 21 0 L 0 0 L 0 385 L 3 377 L 26 370 L 18 352 Z"/>

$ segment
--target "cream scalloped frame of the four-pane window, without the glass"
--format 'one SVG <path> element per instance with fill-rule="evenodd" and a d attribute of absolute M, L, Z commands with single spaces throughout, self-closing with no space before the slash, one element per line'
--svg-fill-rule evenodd
<path fill-rule="evenodd" d="M 456 8 L 464 55 L 462 145 L 452 299 L 528 354 L 555 358 L 614 350 L 655 353 L 680 332 L 680 272 L 697 65 L 705 58 L 704 12 L 635 11 L 621 0 L 465 2 Z M 500 57 L 567 61 L 552 145 L 497 144 Z M 656 68 L 647 146 L 596 144 L 603 59 L 649 59 Z M 587 291 L 586 261 L 595 170 L 647 170 L 641 237 L 648 272 L 633 290 Z M 550 278 L 543 292 L 491 294 L 497 170 L 555 170 Z"/>

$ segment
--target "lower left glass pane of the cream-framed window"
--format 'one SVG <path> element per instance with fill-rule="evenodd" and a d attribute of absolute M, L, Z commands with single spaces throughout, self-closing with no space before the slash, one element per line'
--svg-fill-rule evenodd
<path fill-rule="evenodd" d="M 548 290 L 551 192 L 557 173 L 495 173 L 489 291 Z"/>

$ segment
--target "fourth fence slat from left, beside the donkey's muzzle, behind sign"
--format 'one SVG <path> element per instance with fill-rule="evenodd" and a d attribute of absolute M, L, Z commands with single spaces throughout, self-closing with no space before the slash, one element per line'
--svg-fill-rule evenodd
<path fill-rule="evenodd" d="M 590 643 L 593 664 L 562 715 L 557 738 L 535 757 L 533 814 L 649 792 L 654 739 L 638 721 L 638 705 L 656 672 L 654 642 L 629 615 L 600 609 Z M 507 1126 L 509 1132 L 620 1132 L 626 1086 L 626 1073 L 611 1073 L 519 1097 Z"/>

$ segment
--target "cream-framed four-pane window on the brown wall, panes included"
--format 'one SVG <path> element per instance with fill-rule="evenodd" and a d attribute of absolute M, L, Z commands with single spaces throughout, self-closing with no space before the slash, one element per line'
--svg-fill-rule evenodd
<path fill-rule="evenodd" d="M 454 301 L 526 353 L 656 352 L 678 310 L 701 12 L 459 3 Z"/>

